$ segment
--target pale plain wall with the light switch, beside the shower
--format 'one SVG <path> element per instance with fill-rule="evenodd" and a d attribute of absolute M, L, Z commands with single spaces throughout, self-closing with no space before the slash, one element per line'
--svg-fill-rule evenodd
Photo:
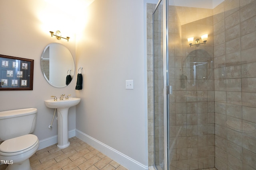
<path fill-rule="evenodd" d="M 146 168 L 143 8 L 137 0 L 95 0 L 88 7 L 76 47 L 76 65 L 83 66 L 76 129 Z M 125 80 L 134 80 L 133 90 L 125 89 Z"/>

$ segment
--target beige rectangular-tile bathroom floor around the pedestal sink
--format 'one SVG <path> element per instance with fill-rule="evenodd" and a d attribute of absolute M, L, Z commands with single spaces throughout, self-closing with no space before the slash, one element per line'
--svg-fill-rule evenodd
<path fill-rule="evenodd" d="M 77 137 L 70 146 L 58 149 L 57 144 L 38 150 L 31 158 L 32 170 L 127 170 Z M 4 170 L 6 165 L 0 165 Z"/>

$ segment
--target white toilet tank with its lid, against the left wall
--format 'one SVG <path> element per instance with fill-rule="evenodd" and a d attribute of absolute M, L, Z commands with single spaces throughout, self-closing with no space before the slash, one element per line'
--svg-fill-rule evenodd
<path fill-rule="evenodd" d="M 36 108 L 0 111 L 0 141 L 32 133 L 36 113 Z"/>

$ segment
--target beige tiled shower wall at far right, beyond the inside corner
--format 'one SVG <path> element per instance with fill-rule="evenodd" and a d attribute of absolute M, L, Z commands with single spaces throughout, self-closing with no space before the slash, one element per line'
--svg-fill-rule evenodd
<path fill-rule="evenodd" d="M 256 1 L 214 9 L 215 166 L 256 169 Z"/>

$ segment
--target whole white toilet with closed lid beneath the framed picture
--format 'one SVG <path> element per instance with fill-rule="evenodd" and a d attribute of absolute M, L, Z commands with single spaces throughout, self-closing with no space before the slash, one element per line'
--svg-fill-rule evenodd
<path fill-rule="evenodd" d="M 31 170 L 29 158 L 39 147 L 38 137 L 30 134 L 36 113 L 36 108 L 0 112 L 0 164 L 8 164 L 6 170 Z"/>

